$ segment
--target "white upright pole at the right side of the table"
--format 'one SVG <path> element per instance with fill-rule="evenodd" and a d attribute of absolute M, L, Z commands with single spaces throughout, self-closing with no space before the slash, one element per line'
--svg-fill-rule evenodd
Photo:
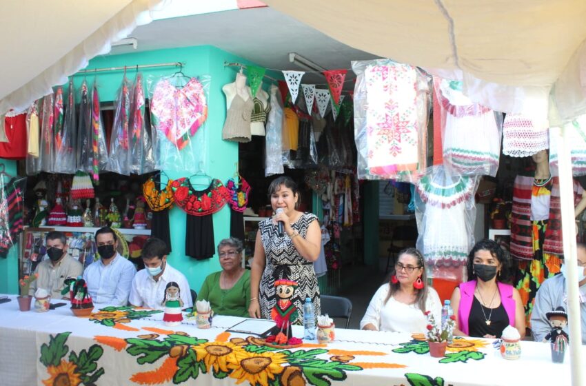
<path fill-rule="evenodd" d="M 585 385 L 583 376 L 582 334 L 580 333 L 580 301 L 578 301 L 578 258 L 576 257 L 576 222 L 574 215 L 574 181 L 572 179 L 572 156 L 566 130 L 563 125 L 558 138 L 558 169 L 560 179 L 560 205 L 562 212 L 562 235 L 564 264 L 566 265 L 567 314 L 569 324 L 569 360 L 572 367 L 572 385 Z"/>

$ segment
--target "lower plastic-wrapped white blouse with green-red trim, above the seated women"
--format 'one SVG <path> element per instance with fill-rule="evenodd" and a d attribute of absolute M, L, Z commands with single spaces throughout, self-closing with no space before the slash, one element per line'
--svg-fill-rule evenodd
<path fill-rule="evenodd" d="M 478 187 L 476 176 L 450 176 L 437 166 L 416 184 L 417 248 L 425 256 L 427 274 L 463 281 L 474 245 Z"/>

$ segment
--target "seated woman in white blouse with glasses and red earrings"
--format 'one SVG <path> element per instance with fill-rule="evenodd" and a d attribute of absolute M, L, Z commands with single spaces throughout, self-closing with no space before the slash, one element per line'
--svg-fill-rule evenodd
<path fill-rule="evenodd" d="M 441 321 L 441 303 L 437 292 L 427 285 L 423 254 L 407 248 L 398 256 L 390 283 L 383 284 L 372 296 L 360 327 L 425 334 L 427 311 Z"/>

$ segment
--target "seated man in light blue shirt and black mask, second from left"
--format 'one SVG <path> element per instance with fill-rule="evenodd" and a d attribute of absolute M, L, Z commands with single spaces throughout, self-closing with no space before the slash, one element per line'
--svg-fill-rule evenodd
<path fill-rule="evenodd" d="M 83 272 L 88 292 L 94 303 L 126 305 L 137 269 L 117 252 L 118 239 L 110 227 L 100 228 L 95 237 L 100 259 Z"/>

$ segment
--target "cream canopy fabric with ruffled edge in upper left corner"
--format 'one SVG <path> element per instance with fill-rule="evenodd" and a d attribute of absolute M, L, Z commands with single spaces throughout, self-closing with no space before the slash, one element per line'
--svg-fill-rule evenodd
<path fill-rule="evenodd" d="M 24 110 L 110 52 L 110 43 L 150 23 L 163 0 L 7 0 L 0 12 L 0 114 Z"/>

